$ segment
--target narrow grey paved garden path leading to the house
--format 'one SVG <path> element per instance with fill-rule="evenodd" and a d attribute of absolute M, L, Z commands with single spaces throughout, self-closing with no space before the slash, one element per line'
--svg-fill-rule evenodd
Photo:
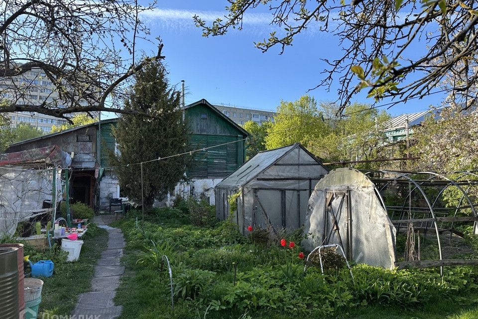
<path fill-rule="evenodd" d="M 84 318 L 115 319 L 121 315 L 121 306 L 115 306 L 113 299 L 119 286 L 119 278 L 124 273 L 120 265 L 125 246 L 121 229 L 108 226 L 114 219 L 112 215 L 95 216 L 94 222 L 108 231 L 108 247 L 101 254 L 95 266 L 92 291 L 81 294 L 73 315 Z"/>

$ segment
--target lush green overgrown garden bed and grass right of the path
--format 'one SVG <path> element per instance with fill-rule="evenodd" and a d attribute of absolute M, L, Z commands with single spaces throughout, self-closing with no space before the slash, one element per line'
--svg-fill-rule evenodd
<path fill-rule="evenodd" d="M 260 230 L 244 237 L 228 221 L 203 216 L 192 225 L 197 216 L 184 207 L 155 209 L 137 224 L 130 217 L 117 222 L 127 242 L 115 299 L 121 319 L 478 318 L 477 268 L 448 267 L 443 278 L 436 269 L 367 265 L 353 266 L 354 280 L 347 269 L 303 275 L 298 232 L 282 234 L 282 247 Z M 162 255 L 171 261 L 174 311 Z"/>

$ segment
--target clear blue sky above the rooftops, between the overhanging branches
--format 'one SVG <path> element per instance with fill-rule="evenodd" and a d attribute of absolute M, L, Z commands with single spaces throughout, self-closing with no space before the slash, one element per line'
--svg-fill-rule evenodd
<path fill-rule="evenodd" d="M 280 100 L 296 100 L 319 83 L 326 67 L 320 58 L 341 54 L 334 35 L 317 32 L 313 27 L 299 34 L 282 55 L 277 49 L 262 53 L 253 42 L 271 31 L 265 7 L 249 14 L 241 31 L 203 37 L 201 29 L 194 25 L 194 13 L 211 19 L 223 15 L 225 5 L 225 0 L 160 0 L 154 12 L 142 17 L 151 30 L 151 39 L 160 36 L 163 40 L 171 83 L 179 87 L 181 80 L 186 81 L 186 103 L 205 98 L 213 104 L 275 110 Z M 153 44 L 143 43 L 141 48 L 147 54 L 155 50 Z M 339 75 L 335 78 L 330 92 L 324 87 L 309 94 L 319 101 L 336 100 Z M 397 115 L 423 111 L 441 99 L 443 95 L 435 94 L 426 100 L 394 106 L 388 112 Z M 356 101 L 373 103 L 364 96 L 358 96 Z"/>

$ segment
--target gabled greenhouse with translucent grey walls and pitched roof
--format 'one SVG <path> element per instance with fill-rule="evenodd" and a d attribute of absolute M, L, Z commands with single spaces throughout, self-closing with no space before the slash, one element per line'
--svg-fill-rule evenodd
<path fill-rule="evenodd" d="M 215 188 L 216 216 L 230 216 L 242 233 L 248 226 L 296 229 L 305 220 L 309 197 L 328 170 L 301 144 L 259 152 Z"/>

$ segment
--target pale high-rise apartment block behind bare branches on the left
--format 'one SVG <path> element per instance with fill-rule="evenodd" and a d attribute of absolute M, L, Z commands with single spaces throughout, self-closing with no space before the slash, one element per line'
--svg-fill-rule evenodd
<path fill-rule="evenodd" d="M 0 100 L 8 100 L 16 104 L 40 105 L 43 101 L 62 108 L 64 104 L 58 98 L 54 85 L 46 77 L 43 70 L 32 68 L 17 77 L 0 78 Z M 87 101 L 80 102 L 87 105 Z M 11 120 L 11 127 L 20 123 L 38 127 L 45 133 L 50 132 L 53 125 L 61 125 L 66 120 L 36 112 L 11 112 L 6 114 Z"/>

